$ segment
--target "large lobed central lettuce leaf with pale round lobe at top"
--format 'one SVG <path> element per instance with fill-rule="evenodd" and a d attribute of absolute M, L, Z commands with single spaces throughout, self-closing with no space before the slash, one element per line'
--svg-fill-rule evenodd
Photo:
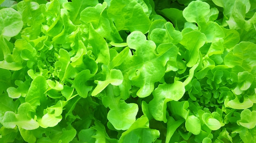
<path fill-rule="evenodd" d="M 132 32 L 127 37 L 127 43 L 136 52 L 133 56 L 128 54 L 119 67 L 124 74 L 123 84 L 130 84 L 131 81 L 132 85 L 140 88 L 137 95 L 147 97 L 154 90 L 154 83 L 164 76 L 166 62 L 177 55 L 177 47 L 172 43 L 161 44 L 157 48 L 159 54 L 155 54 L 155 43 L 146 40 L 146 36 L 139 31 Z"/>

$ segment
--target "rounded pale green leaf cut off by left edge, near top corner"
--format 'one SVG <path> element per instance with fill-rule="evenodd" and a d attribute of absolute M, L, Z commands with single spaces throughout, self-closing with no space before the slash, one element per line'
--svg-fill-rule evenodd
<path fill-rule="evenodd" d="M 12 8 L 0 9 L 0 35 L 10 39 L 18 35 L 22 26 L 22 17 L 18 11 Z"/>

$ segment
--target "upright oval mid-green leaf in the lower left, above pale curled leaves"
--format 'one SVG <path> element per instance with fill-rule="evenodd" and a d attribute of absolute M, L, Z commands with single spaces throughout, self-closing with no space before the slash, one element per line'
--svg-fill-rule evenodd
<path fill-rule="evenodd" d="M 45 77 L 36 76 L 36 78 L 31 82 L 25 101 L 30 103 L 31 106 L 39 106 L 41 100 L 45 100 L 46 98 L 46 90 L 47 82 Z"/>

